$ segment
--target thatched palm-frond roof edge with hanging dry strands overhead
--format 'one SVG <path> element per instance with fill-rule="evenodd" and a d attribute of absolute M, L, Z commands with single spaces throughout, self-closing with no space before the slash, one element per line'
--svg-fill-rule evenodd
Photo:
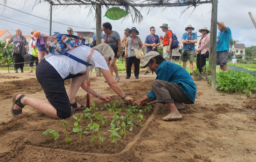
<path fill-rule="evenodd" d="M 36 0 L 39 1 L 39 0 Z M 104 6 L 106 9 L 113 6 L 120 6 L 127 12 L 124 18 L 131 16 L 133 22 L 142 22 L 143 15 L 136 8 L 139 7 L 148 7 L 149 11 L 152 7 L 162 7 L 166 9 L 170 6 L 187 6 L 181 14 L 186 11 L 191 6 L 198 6 L 204 3 L 211 3 L 212 0 L 44 0 L 48 2 L 53 2 L 53 5 L 81 5 L 81 7 L 89 8 L 88 15 L 93 14 L 96 11 L 96 5 L 99 4 Z M 40 0 L 41 2 L 41 0 Z"/>

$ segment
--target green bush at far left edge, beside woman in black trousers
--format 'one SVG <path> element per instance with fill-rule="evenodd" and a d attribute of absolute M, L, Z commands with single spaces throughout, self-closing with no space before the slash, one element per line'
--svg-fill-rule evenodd
<path fill-rule="evenodd" d="M 8 63 L 13 62 L 13 57 L 12 57 L 12 48 L 13 44 L 8 45 L 6 48 L 6 52 L 4 50 L 4 47 L 6 46 L 6 43 L 4 43 L 2 40 L 0 40 L 0 64 L 5 64 L 6 62 L 6 53 L 8 57 Z"/>

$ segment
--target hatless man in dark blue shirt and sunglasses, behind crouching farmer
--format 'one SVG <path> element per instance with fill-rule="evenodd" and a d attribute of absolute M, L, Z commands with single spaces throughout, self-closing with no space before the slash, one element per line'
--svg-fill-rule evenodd
<path fill-rule="evenodd" d="M 150 51 L 157 51 L 157 47 L 160 45 L 160 38 L 158 35 L 156 35 L 156 28 L 154 26 L 150 27 L 151 34 L 146 37 L 145 45 L 147 46 L 146 53 Z M 149 67 L 147 66 L 147 71 L 145 74 L 150 74 Z"/>

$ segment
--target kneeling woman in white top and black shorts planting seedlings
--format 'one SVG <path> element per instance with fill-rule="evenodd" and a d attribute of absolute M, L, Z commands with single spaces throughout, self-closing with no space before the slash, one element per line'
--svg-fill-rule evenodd
<path fill-rule="evenodd" d="M 117 82 L 113 79 L 109 72 L 107 61 L 114 58 L 112 48 L 106 43 L 101 43 L 93 47 L 95 50 L 91 55 L 88 66 L 89 71 L 94 66 L 99 67 L 101 73 L 107 80 L 108 85 L 124 100 L 133 101 L 133 98 L 127 97 L 121 91 Z M 84 60 L 88 60 L 91 48 L 88 46 L 79 46 L 68 53 Z M 37 110 L 54 118 L 67 118 L 71 115 L 71 111 L 84 108 L 75 101 L 75 95 L 81 86 L 85 91 L 87 88 L 86 66 L 75 61 L 65 55 L 48 54 L 37 66 L 37 79 L 45 92 L 48 101 L 31 98 L 23 94 L 14 94 L 12 114 L 14 116 L 22 116 L 22 108 L 30 105 Z M 72 78 L 67 94 L 64 80 Z M 90 87 L 89 93 L 100 100 L 109 102 L 111 100 L 107 95 L 102 95 Z M 73 107 L 71 110 L 71 106 Z"/>

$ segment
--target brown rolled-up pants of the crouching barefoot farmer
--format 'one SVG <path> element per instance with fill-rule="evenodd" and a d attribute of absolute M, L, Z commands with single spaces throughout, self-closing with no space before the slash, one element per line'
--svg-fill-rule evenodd
<path fill-rule="evenodd" d="M 185 104 L 191 103 L 191 99 L 181 90 L 180 84 L 154 80 L 152 82 L 152 89 L 157 97 L 157 102 L 160 103 L 174 103 L 174 100 L 183 102 Z"/>

